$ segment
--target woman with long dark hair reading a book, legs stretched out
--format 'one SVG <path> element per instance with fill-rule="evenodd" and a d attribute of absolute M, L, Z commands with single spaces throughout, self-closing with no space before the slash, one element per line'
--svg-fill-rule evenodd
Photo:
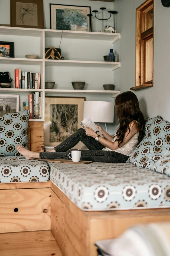
<path fill-rule="evenodd" d="M 89 150 L 81 151 L 81 160 L 93 162 L 126 162 L 136 145 L 144 136 L 144 116 L 139 108 L 136 95 L 132 92 L 119 94 L 115 99 L 116 116 L 119 128 L 114 137 L 110 136 L 100 126 L 103 137 L 97 135 L 91 128 L 80 128 L 60 145 L 50 152 L 37 153 L 29 151 L 20 145 L 17 150 L 26 159 L 69 159 L 71 148 L 83 142 Z"/>

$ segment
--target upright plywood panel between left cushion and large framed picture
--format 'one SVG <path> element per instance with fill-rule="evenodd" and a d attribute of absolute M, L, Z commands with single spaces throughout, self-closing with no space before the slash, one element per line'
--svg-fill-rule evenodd
<path fill-rule="evenodd" d="M 44 152 L 44 123 L 28 122 L 28 149 Z"/>

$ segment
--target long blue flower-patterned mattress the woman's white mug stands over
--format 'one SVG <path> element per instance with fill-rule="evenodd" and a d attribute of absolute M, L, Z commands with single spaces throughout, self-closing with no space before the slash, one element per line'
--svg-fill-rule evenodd
<path fill-rule="evenodd" d="M 51 163 L 50 180 L 84 211 L 170 208 L 170 177 L 132 163 Z"/>

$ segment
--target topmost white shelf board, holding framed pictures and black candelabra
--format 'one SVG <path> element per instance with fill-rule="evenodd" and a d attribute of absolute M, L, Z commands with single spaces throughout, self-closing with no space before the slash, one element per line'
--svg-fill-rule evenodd
<path fill-rule="evenodd" d="M 23 28 L 23 27 L 6 27 L 0 26 L 1 35 L 18 35 L 18 36 L 36 36 L 41 37 L 45 32 L 45 37 L 60 38 L 62 30 L 55 29 L 38 29 L 38 28 Z M 63 38 L 72 39 L 90 39 L 90 40 L 108 40 L 112 43 L 120 39 L 120 33 L 101 33 L 101 32 L 84 32 L 63 30 Z"/>

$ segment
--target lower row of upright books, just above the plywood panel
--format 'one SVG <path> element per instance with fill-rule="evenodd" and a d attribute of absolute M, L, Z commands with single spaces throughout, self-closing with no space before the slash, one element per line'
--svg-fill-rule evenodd
<path fill-rule="evenodd" d="M 42 119 L 42 92 L 28 95 L 28 101 L 23 102 L 23 110 L 30 110 L 29 119 Z"/>

